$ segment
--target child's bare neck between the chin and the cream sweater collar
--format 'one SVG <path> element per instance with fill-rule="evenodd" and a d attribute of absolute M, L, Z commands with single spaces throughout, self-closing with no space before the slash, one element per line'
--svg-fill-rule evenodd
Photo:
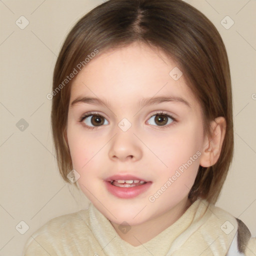
<path fill-rule="evenodd" d="M 118 235 L 126 242 L 133 246 L 145 243 L 162 232 L 164 229 L 172 225 L 186 209 L 191 205 L 189 199 L 184 198 L 173 208 L 164 212 L 162 215 L 154 217 L 150 220 L 137 225 L 132 225 L 127 233 L 121 232 L 118 228 L 119 224 L 111 222 Z"/>

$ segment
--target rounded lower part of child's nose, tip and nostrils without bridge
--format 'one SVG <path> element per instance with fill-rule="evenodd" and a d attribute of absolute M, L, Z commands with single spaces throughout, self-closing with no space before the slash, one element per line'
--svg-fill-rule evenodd
<path fill-rule="evenodd" d="M 111 139 L 109 158 L 115 161 L 139 160 L 142 156 L 140 141 L 131 131 L 117 131 Z"/>

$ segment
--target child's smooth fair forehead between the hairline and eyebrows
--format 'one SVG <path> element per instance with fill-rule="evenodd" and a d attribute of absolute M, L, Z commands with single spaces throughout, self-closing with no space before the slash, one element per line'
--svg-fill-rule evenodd
<path fill-rule="evenodd" d="M 144 43 L 106 50 L 77 74 L 71 85 L 70 102 L 88 96 L 118 106 L 125 102 L 127 106 L 142 97 L 172 96 L 195 104 L 181 72 L 173 59 Z"/>

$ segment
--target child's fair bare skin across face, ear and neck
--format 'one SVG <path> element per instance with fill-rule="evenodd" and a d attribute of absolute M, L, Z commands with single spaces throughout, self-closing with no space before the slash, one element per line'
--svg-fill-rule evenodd
<path fill-rule="evenodd" d="M 118 235 L 133 246 L 156 236 L 190 206 L 187 195 L 197 169 L 216 162 L 224 137 L 223 117 L 212 121 L 212 137 L 204 134 L 201 107 L 184 77 L 175 81 L 169 75 L 176 66 L 160 50 L 135 42 L 101 52 L 72 81 L 65 138 L 73 168 L 80 174 L 77 182 Z M 166 95 L 181 97 L 189 106 L 178 101 L 138 106 L 143 97 Z M 84 96 L 104 99 L 109 105 L 71 105 Z M 86 127 L 95 124 L 90 117 L 79 121 L 90 111 L 102 116 L 101 126 Z M 175 120 L 167 118 L 165 127 L 157 125 L 154 117 L 160 111 Z M 131 123 L 125 132 L 118 127 L 122 118 Z M 155 201 L 149 201 L 196 152 L 200 156 Z M 152 183 L 134 198 L 118 198 L 104 185 L 113 174 L 133 174 Z M 126 234 L 118 228 L 123 221 L 131 226 Z"/>

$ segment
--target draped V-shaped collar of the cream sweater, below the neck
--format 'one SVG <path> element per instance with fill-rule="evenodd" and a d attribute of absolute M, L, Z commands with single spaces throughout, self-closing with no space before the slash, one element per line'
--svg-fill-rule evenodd
<path fill-rule="evenodd" d="M 163 252 L 166 253 L 169 250 L 177 237 L 185 233 L 189 235 L 190 232 L 186 231 L 189 230 L 188 227 L 194 226 L 194 223 L 201 222 L 199 220 L 203 216 L 203 218 L 206 217 L 205 212 L 208 207 L 209 203 L 206 200 L 196 200 L 172 225 L 149 241 L 138 246 L 133 246 L 124 241 L 115 231 L 110 221 L 91 202 L 88 209 L 91 230 L 104 253 L 110 256 L 125 255 L 127 251 L 129 254 L 141 253 L 142 255 L 149 255 L 149 252 L 151 252 L 153 255 L 165 255 Z M 186 232 L 184 233 L 184 231 Z M 161 246 L 159 246 L 159 241 L 161 241 Z"/>

